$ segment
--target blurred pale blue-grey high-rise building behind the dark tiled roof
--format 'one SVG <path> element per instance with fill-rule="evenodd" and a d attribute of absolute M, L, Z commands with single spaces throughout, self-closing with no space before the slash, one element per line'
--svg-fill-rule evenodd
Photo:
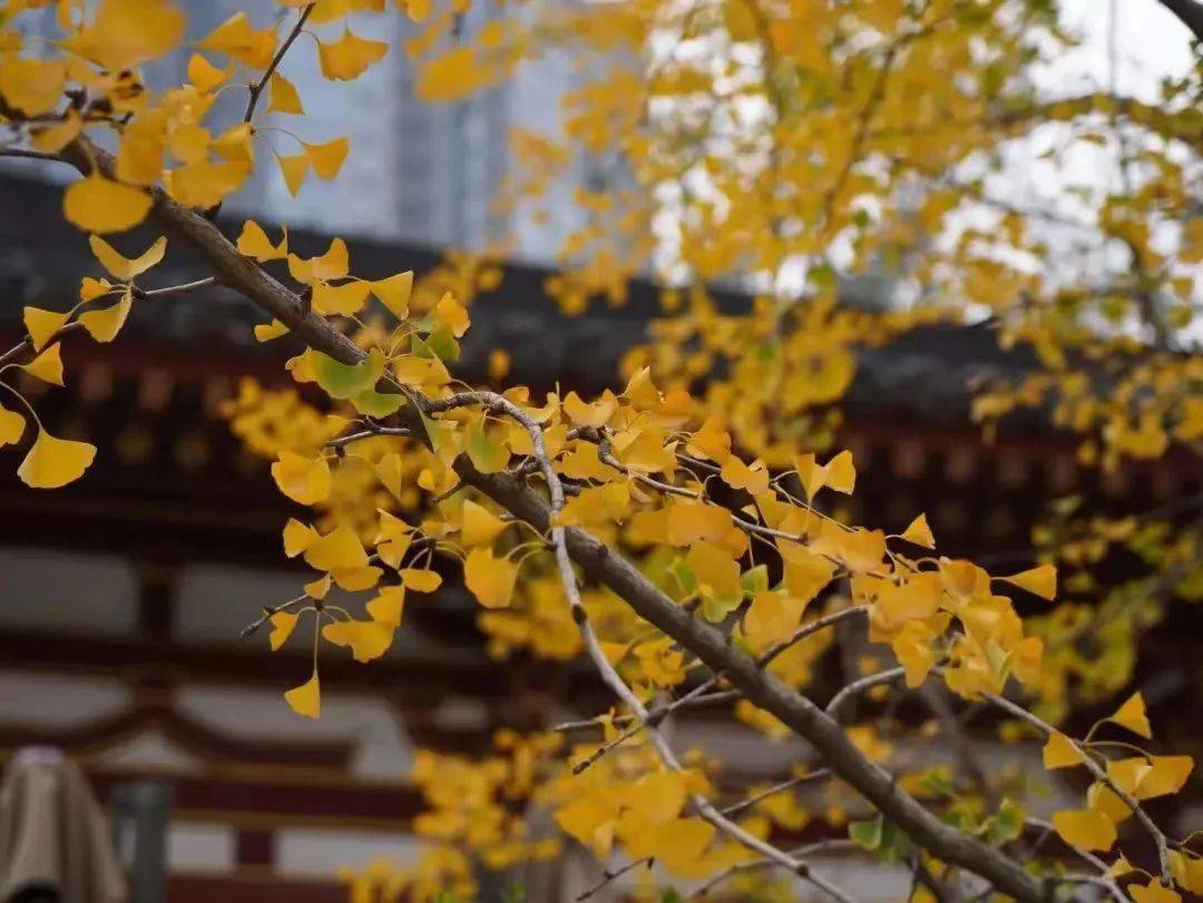
<path fill-rule="evenodd" d="M 196 40 L 236 12 L 247 12 L 256 28 L 283 16 L 282 31 L 295 14 L 273 0 L 180 0 L 180 5 L 188 10 L 189 37 Z M 460 34 L 467 40 L 493 14 L 485 5 L 473 5 Z M 26 14 L 25 25 L 31 36 L 57 34 L 51 8 Z M 328 24 L 316 30 L 325 37 L 339 28 Z M 575 227 L 571 178 L 553 189 L 549 215 L 538 224 L 528 216 L 499 215 L 493 200 L 509 165 L 510 130 L 558 132 L 559 99 L 574 78 L 567 57 L 529 61 L 512 79 L 467 100 L 428 103 L 415 95 L 417 66 L 405 53 L 416 25 L 402 14 L 384 14 L 352 17 L 351 28 L 362 37 L 386 41 L 385 58 L 352 82 L 330 82 L 321 76 L 314 41 L 302 35 L 280 71 L 297 85 L 306 115 L 272 113 L 256 119 L 259 164 L 226 209 L 266 222 L 432 248 L 480 249 L 510 238 L 512 256 L 550 261 Z M 192 52 L 184 48 L 147 66 L 148 87 L 185 81 Z M 213 130 L 235 124 L 244 107 L 243 91 L 224 91 L 211 113 Z M 292 197 L 271 155 L 301 153 L 298 138 L 322 143 L 340 136 L 350 138 L 351 152 L 338 178 L 324 183 L 310 173 Z M 28 161 L 0 161 L 0 167 L 67 178 Z"/>

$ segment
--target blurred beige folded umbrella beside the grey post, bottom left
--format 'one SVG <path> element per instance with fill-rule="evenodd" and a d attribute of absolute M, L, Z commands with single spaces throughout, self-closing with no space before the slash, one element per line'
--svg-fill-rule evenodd
<path fill-rule="evenodd" d="M 126 903 L 105 812 L 57 750 L 19 751 L 0 784 L 0 901 Z"/>

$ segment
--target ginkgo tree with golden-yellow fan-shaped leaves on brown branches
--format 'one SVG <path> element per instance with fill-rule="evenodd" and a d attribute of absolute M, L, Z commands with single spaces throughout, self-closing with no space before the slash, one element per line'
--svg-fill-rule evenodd
<path fill-rule="evenodd" d="M 272 650 L 312 644 L 312 673 L 286 703 L 320 717 L 322 658 L 380 658 L 407 600 L 439 589 L 435 559 L 462 564 L 491 652 L 583 659 L 614 696 L 582 721 L 503 731 L 484 760 L 421 753 L 414 780 L 428 810 L 415 830 L 432 846 L 411 867 L 351 875 L 357 898 L 469 898 L 479 869 L 545 861 L 565 843 L 605 863 L 585 896 L 630 878 L 639 893 L 656 892 L 650 881 L 745 898 L 804 883 L 847 903 L 811 866 L 828 849 L 901 863 L 908 895 L 924 899 L 1203 892 L 1198 832 L 1160 825 L 1145 804 L 1181 791 L 1193 762 L 1160 750 L 1139 693 L 1067 732 L 1077 634 L 1015 610 L 1025 595 L 1066 605 L 1055 560 L 1085 572 L 1139 525 L 1054 524 L 1049 560 L 995 572 L 940 554 L 923 512 L 899 534 L 834 516 L 857 465 L 831 447 L 857 346 L 984 307 L 1001 340 L 1030 343 L 1042 363 L 978 398 L 988 424 L 1051 405 L 1098 465 L 1197 450 L 1201 358 L 1185 341 L 1203 244 L 1198 72 L 1167 79 L 1160 105 L 1048 100 L 1025 78 L 1068 41 L 1048 0 L 551 4 L 464 35 L 467 4 L 280 0 L 269 20 L 237 12 L 207 35 L 168 0 L 0 7 L 0 154 L 77 171 L 63 212 L 97 265 L 78 299 L 25 309 L 28 334 L 0 355 L 0 375 L 20 368 L 63 386 L 64 334 L 117 340 L 140 303 L 213 284 L 257 305 L 260 341 L 288 337 L 298 350 L 282 366 L 303 396 L 248 382 L 225 408 L 272 459 L 279 491 L 310 511 L 282 524 L 284 556 L 309 577 L 248 626 L 266 629 Z M 1203 40 L 1198 4 L 1165 5 Z M 24 22 L 45 7 L 58 34 L 30 40 Z M 503 201 L 540 203 L 557 161 L 577 153 L 617 160 L 612 186 L 577 192 L 587 225 L 565 238 L 547 285 L 573 311 L 595 296 L 621 303 L 635 273 L 663 280 L 664 315 L 614 390 L 537 398 L 455 376 L 473 296 L 498 279 L 491 265 L 457 257 L 416 280 L 363 279 L 342 238 L 303 257 L 284 230 L 217 225 L 256 165 L 279 167 L 294 194 L 337 178 L 354 153 L 345 137 L 286 135 L 282 153 L 262 117 L 304 115 L 280 70 L 289 53 L 315 52 L 325 78 L 349 81 L 401 52 L 357 34 L 368 16 L 419 24 L 405 51 L 432 102 L 496 85 L 550 44 L 597 55 L 600 75 L 564 97 L 567 147 L 514 136 Z M 148 90 L 143 71 L 177 52 L 185 79 Z M 224 93 L 244 93 L 245 106 L 218 130 Z M 1073 245 L 1078 261 L 1036 228 L 1053 214 L 991 194 L 989 176 L 1039 126 L 1060 136 L 1042 159 L 1077 143 L 1120 155 L 1119 188 L 1067 185 L 1091 214 L 1072 224 L 1090 236 Z M 961 208 L 996 215 L 958 224 Z M 162 237 L 131 246 L 119 233 L 142 224 Z M 168 245 L 211 275 L 148 287 Z M 1112 246 L 1126 249 L 1124 266 L 1096 272 Z M 841 284 L 873 267 L 895 274 L 894 304 L 841 305 Z M 755 296 L 735 314 L 710 295 L 733 278 Z M 491 360 L 498 379 L 504 351 Z M 52 435 L 0 385 L 12 405 L 0 408 L 0 444 L 31 436 L 18 476 L 31 488 L 79 479 L 97 450 Z M 1198 530 L 1142 542 L 1157 583 L 1148 595 L 1162 600 L 1149 605 L 1185 594 Z M 334 587 L 354 601 L 334 604 Z M 1124 601 L 1130 624 L 1138 607 Z M 820 703 L 810 678 L 837 631 L 866 652 Z M 1090 685 L 1122 689 L 1112 678 Z M 855 714 L 860 700 L 908 694 L 930 721 L 906 730 Z M 1078 802 L 1050 821 L 1032 815 L 1041 782 L 977 764 L 961 705 L 995 709 L 1017 755 L 1072 772 Z M 807 756 L 777 783 L 733 786 L 721 762 L 665 730 L 703 706 L 765 742 L 801 738 Z M 891 759 L 907 733 L 932 732 L 960 750 L 955 771 Z M 789 844 L 812 819 L 841 830 Z"/>

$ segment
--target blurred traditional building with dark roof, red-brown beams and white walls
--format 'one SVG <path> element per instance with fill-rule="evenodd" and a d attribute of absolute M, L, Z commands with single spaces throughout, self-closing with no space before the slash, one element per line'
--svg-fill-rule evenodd
<path fill-rule="evenodd" d="M 23 305 L 66 308 L 94 265 L 63 221 L 55 189 L 4 178 L 0 206 L 20 212 L 0 218 L 8 347 L 23 334 Z M 301 249 L 325 246 L 319 234 L 291 236 Z M 351 255 L 366 277 L 437 262 L 396 242 L 365 239 Z M 155 271 L 162 284 L 201 275 L 176 248 Z M 545 275 L 509 267 L 475 303 L 466 370 L 482 373 L 487 350 L 506 347 L 517 381 L 611 382 L 656 309 L 652 290 L 636 285 L 623 308 L 565 319 L 541 297 Z M 583 669 L 552 682 L 527 658 L 488 659 L 475 605 L 449 586 L 407 608 L 385 659 L 324 658 L 319 721 L 284 706 L 280 691 L 307 673 L 307 655 L 268 654 L 262 636 L 241 631 L 300 582 L 279 548 L 290 507 L 266 463 L 217 416 L 239 378 L 285 380 L 284 352 L 250 338 L 257 320 L 214 289 L 138 304 L 112 345 L 69 337 L 69 388 L 35 403 L 53 432 L 99 445 L 97 463 L 78 483 L 43 493 L 19 483 L 16 456 L 0 452 L 0 761 L 53 744 L 84 766 L 105 801 L 136 798 L 140 788 L 166 794 L 172 903 L 343 899 L 337 867 L 415 849 L 409 821 L 420 800 L 407 773 L 416 748 L 480 749 L 494 727 L 545 725 L 606 700 Z M 860 470 L 858 518 L 897 529 L 923 510 L 950 552 L 1019 549 L 1019 566 L 1050 495 L 1085 493 L 1142 511 L 1203 491 L 1197 463 L 1185 459 L 1101 476 L 1078 467 L 1069 438 L 1037 424 L 984 444 L 968 422 L 966 382 L 986 367 L 1029 364 L 1001 355 L 986 331 L 959 327 L 866 352 L 841 436 Z M 1203 688 L 1191 658 L 1197 622 L 1185 617 L 1173 613 L 1150 637 L 1158 654 L 1142 685 L 1155 714 L 1174 713 L 1162 724 L 1179 725 L 1174 744 L 1187 751 L 1198 747 Z M 747 771 L 798 754 L 710 730 L 705 715 L 682 730 Z M 865 874 L 846 875 L 859 898 L 893 897 L 879 875 Z"/>

